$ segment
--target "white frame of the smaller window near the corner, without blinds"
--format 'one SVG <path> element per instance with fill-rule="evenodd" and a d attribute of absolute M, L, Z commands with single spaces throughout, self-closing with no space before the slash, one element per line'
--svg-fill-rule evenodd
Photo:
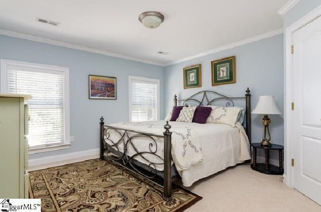
<path fill-rule="evenodd" d="M 140 82 L 146 82 L 146 83 L 154 83 L 156 84 L 156 120 L 159 120 L 159 111 L 160 111 L 160 108 L 159 108 L 159 105 L 160 105 L 160 98 L 159 98 L 159 79 L 156 79 L 156 78 L 148 78 L 148 77 L 142 77 L 142 76 L 132 76 L 132 75 L 129 75 L 128 76 L 128 97 L 129 97 L 129 121 L 132 121 L 131 119 L 131 104 L 132 104 L 132 100 L 131 100 L 131 83 L 132 83 L 132 80 L 136 80 L 136 81 L 140 81 Z"/>

